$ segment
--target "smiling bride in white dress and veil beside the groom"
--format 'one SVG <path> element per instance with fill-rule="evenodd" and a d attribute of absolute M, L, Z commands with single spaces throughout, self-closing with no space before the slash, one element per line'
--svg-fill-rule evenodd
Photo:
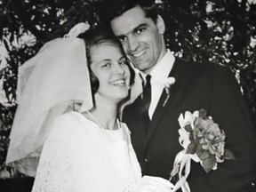
<path fill-rule="evenodd" d="M 168 180 L 141 176 L 118 119 L 134 81 L 122 45 L 88 28 L 76 25 L 20 68 L 6 164 L 36 176 L 33 192 L 172 191 Z"/>

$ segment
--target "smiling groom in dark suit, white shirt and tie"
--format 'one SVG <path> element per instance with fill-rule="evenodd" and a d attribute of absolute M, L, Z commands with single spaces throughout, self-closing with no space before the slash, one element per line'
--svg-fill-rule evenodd
<path fill-rule="evenodd" d="M 101 12 L 102 22 L 109 24 L 145 79 L 143 98 L 139 96 L 124 108 L 123 116 L 131 129 L 133 148 L 143 174 L 169 179 L 174 158 L 182 149 L 178 118 L 185 111 L 204 108 L 225 131 L 225 148 L 235 159 L 225 160 L 209 173 L 193 162 L 188 177 L 191 191 L 247 190 L 253 180 L 256 141 L 236 78 L 228 68 L 219 65 L 175 58 L 165 46 L 164 20 L 157 14 L 154 2 L 150 2 L 110 0 Z M 150 77 L 146 78 L 147 75 Z M 168 77 L 172 80 L 170 84 Z M 170 88 L 164 88 L 164 84 Z M 144 98 L 149 100 L 146 115 L 143 109 L 148 101 Z"/>

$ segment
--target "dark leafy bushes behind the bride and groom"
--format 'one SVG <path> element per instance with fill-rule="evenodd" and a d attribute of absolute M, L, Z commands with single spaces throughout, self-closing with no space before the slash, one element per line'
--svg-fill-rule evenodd
<path fill-rule="evenodd" d="M 0 177 L 20 177 L 4 165 L 8 136 L 17 108 L 18 67 L 47 41 L 63 36 L 76 23 L 98 22 L 100 0 L 2 0 L 0 40 L 8 52 L 1 61 L 0 81 L 6 100 L 0 100 Z M 178 57 L 230 67 L 256 111 L 256 1 L 162 0 L 168 47 Z M 29 41 L 25 41 L 29 36 Z M 18 176 L 17 176 L 18 175 Z"/>

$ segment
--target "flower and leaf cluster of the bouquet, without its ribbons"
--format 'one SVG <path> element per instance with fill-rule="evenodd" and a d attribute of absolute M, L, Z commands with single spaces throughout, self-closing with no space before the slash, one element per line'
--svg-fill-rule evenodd
<path fill-rule="evenodd" d="M 205 172 L 217 169 L 224 159 L 234 159 L 231 151 L 225 148 L 226 134 L 214 123 L 203 108 L 193 114 L 185 112 L 180 115 L 180 143 L 186 153 L 196 162 L 200 162 Z"/>

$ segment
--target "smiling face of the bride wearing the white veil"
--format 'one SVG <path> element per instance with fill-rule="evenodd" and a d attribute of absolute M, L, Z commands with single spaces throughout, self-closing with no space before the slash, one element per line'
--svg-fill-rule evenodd
<path fill-rule="evenodd" d="M 130 89 L 129 63 L 120 48 L 111 42 L 93 45 L 90 48 L 91 69 L 100 86 L 95 93 L 111 100 L 124 100 Z"/>

